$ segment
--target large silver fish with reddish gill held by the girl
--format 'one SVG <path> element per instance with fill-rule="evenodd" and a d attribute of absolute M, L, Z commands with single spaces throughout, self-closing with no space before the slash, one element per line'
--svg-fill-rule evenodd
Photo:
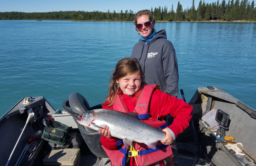
<path fill-rule="evenodd" d="M 165 132 L 140 121 L 137 114 L 111 109 L 93 109 L 80 114 L 76 121 L 96 131 L 107 125 L 111 135 L 122 139 L 127 148 L 135 141 L 155 149 L 157 141 L 164 139 Z"/>

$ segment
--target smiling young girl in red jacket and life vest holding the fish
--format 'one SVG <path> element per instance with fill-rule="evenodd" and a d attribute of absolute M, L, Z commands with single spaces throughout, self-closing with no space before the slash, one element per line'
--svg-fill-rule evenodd
<path fill-rule="evenodd" d="M 158 85 L 146 85 L 144 78 L 137 59 L 120 60 L 116 64 L 116 70 L 109 83 L 107 101 L 102 108 L 126 113 L 138 112 L 141 121 L 154 127 L 161 127 L 166 135 L 157 143 L 155 150 L 137 142 L 126 148 L 122 140 L 111 136 L 108 126 L 100 128 L 99 134 L 103 135 L 100 142 L 111 165 L 164 166 L 164 159 L 173 156 L 169 145 L 189 125 L 193 107 L 182 99 L 163 93 L 158 89 Z M 161 121 L 168 114 L 175 117 L 170 126 Z"/>

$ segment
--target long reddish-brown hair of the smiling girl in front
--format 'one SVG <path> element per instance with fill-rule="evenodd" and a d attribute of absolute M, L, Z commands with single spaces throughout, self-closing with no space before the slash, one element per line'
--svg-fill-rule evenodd
<path fill-rule="evenodd" d="M 112 106 L 116 101 L 116 96 L 119 91 L 119 85 L 116 83 L 116 81 L 119 81 L 123 77 L 132 75 L 135 72 L 139 72 L 141 78 L 140 89 L 142 89 L 143 86 L 146 85 L 146 83 L 145 75 L 142 71 L 139 61 L 136 58 L 124 58 L 118 61 L 118 63 L 116 64 L 115 72 L 113 73 L 113 78 L 108 84 L 109 92 L 108 96 L 106 97 L 108 101 L 107 106 Z M 123 92 L 121 92 L 121 94 L 122 93 Z"/>

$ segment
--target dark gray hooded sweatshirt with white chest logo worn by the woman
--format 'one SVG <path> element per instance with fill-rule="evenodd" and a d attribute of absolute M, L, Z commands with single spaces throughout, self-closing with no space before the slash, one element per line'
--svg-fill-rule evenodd
<path fill-rule="evenodd" d="M 163 92 L 178 96 L 178 62 L 164 29 L 157 32 L 147 44 L 140 39 L 133 47 L 132 58 L 139 60 L 148 85 L 159 84 Z"/>

